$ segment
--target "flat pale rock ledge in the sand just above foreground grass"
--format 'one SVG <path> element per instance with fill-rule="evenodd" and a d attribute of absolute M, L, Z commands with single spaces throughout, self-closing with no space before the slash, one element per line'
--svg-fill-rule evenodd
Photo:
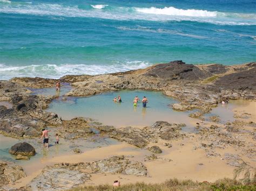
<path fill-rule="evenodd" d="M 142 162 L 130 161 L 124 155 L 86 163 L 61 163 L 46 166 L 41 174 L 22 189 L 60 190 L 75 188 L 90 180 L 90 174 L 93 173 L 122 173 L 146 176 L 147 169 Z"/>

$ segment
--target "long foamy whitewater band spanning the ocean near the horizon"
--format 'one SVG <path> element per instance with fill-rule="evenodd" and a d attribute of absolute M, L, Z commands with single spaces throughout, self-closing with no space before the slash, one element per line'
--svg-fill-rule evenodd
<path fill-rule="evenodd" d="M 99 5 L 96 9 L 102 8 L 102 6 L 103 5 Z M 114 20 L 176 20 L 179 22 L 182 20 L 190 20 L 193 22 L 213 23 L 217 25 L 256 25 L 256 14 L 223 13 L 195 9 L 183 10 L 173 7 L 158 9 L 153 7 L 129 8 L 113 6 L 110 10 L 99 12 L 95 9 L 79 9 L 78 6 L 65 6 L 62 4 L 41 3 L 12 5 L 5 3 L 0 6 L 0 12 L 42 16 L 91 17 Z"/>

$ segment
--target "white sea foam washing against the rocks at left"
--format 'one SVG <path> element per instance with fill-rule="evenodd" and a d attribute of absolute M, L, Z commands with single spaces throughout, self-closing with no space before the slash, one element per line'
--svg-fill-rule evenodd
<path fill-rule="evenodd" d="M 62 65 L 30 65 L 30 66 L 6 66 L 0 63 L 0 80 L 9 80 L 12 77 L 48 77 L 58 79 L 64 75 L 79 74 L 106 74 L 125 72 L 127 70 L 146 68 L 152 63 L 146 61 L 117 61 L 113 65 L 85 65 L 85 64 L 62 64 Z"/>

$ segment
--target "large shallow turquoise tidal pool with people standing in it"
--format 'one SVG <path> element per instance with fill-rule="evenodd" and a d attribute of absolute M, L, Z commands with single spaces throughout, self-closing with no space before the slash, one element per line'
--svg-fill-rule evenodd
<path fill-rule="evenodd" d="M 113 102 L 118 95 L 122 97 L 122 103 Z M 141 102 L 133 107 L 135 96 L 141 100 L 146 96 L 149 100 L 147 107 L 143 108 Z M 63 119 L 90 117 L 114 126 L 147 126 L 156 121 L 186 123 L 190 126 L 188 112 L 177 112 L 169 106 L 177 102 L 157 91 L 124 90 L 90 97 L 68 97 L 66 101 L 54 100 L 48 111 L 56 112 Z"/>

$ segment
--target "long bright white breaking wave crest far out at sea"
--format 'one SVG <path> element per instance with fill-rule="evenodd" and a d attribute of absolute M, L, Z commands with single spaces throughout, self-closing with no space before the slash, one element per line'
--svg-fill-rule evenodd
<path fill-rule="evenodd" d="M 173 6 L 169 8 L 165 7 L 163 9 L 154 8 L 136 8 L 136 11 L 143 13 L 150 13 L 156 15 L 179 15 L 187 17 L 216 17 L 217 11 L 206 11 L 206 10 L 197 10 L 197 9 L 176 9 Z"/>

